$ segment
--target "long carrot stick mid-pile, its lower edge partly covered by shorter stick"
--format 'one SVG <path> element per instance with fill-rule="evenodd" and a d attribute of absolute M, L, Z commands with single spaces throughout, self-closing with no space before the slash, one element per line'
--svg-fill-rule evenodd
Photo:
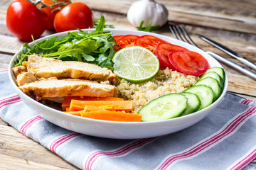
<path fill-rule="evenodd" d="M 113 105 L 116 111 L 132 111 L 132 101 L 78 101 L 72 100 L 70 103 L 70 111 L 79 111 L 86 105 L 105 106 Z"/>

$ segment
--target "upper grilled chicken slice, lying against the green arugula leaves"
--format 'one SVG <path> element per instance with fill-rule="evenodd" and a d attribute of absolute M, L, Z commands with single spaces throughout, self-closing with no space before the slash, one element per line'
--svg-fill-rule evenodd
<path fill-rule="evenodd" d="M 73 79 L 89 79 L 95 81 L 109 80 L 111 84 L 117 84 L 117 74 L 110 69 L 99 67 L 85 62 L 60 61 L 53 58 L 28 56 L 28 62 L 23 62 L 28 72 L 32 72 L 38 78 L 70 77 Z"/>

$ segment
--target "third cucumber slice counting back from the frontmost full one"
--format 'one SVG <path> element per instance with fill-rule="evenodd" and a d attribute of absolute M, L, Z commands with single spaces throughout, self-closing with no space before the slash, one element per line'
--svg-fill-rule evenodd
<path fill-rule="evenodd" d="M 198 111 L 200 111 L 203 108 L 206 108 L 211 103 L 213 103 L 213 89 L 206 85 L 191 86 L 184 92 L 191 92 L 192 94 L 196 94 L 200 98 L 201 106 L 198 109 Z"/>

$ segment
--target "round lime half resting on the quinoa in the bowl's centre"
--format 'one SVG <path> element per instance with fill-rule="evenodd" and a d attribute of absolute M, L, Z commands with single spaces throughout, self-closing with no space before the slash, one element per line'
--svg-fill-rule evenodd
<path fill-rule="evenodd" d="M 119 50 L 114 55 L 113 62 L 114 73 L 118 74 L 120 79 L 134 84 L 149 81 L 159 72 L 159 60 L 156 55 L 140 46 Z"/>

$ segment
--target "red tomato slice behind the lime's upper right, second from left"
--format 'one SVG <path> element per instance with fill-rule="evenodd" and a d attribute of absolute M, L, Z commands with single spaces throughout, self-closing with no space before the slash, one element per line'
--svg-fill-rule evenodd
<path fill-rule="evenodd" d="M 156 46 L 160 43 L 168 44 L 168 42 L 152 35 L 143 35 L 135 40 L 135 45 L 145 47 L 154 54 L 156 54 Z"/>

